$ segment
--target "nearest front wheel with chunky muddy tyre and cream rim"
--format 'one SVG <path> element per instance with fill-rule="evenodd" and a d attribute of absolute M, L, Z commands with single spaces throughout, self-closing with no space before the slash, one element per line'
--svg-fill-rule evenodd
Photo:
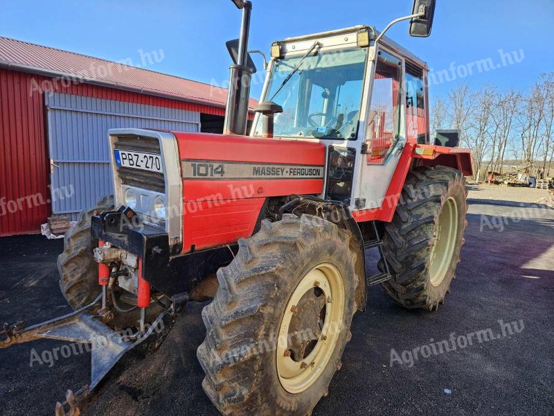
<path fill-rule="evenodd" d="M 215 299 L 202 311 L 206 339 L 197 350 L 202 387 L 222 414 L 305 416 L 327 394 L 356 311 L 359 277 L 349 241 L 326 220 L 288 214 L 263 220 L 260 232 L 239 240 L 233 262 L 217 272 Z M 292 330 L 314 316 L 319 320 L 306 324 L 300 343 L 300 331 Z"/>

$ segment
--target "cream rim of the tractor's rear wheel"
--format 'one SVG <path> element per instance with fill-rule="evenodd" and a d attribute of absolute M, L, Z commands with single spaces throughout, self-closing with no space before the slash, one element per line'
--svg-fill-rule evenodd
<path fill-rule="evenodd" d="M 433 286 L 439 286 L 445 279 L 452 263 L 456 241 L 458 241 L 458 204 L 451 196 L 440 211 L 433 245 L 431 245 L 429 279 Z"/>

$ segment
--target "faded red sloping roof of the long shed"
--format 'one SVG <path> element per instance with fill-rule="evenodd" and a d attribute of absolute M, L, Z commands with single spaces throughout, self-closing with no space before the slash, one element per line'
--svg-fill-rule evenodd
<path fill-rule="evenodd" d="M 227 90 L 222 87 L 1 36 L 0 67 L 216 107 L 224 107 L 227 99 Z M 257 103 L 250 99 L 250 107 Z"/>

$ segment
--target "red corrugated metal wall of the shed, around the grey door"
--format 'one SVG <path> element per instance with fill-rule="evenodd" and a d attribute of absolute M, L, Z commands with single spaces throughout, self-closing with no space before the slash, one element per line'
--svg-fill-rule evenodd
<path fill-rule="evenodd" d="M 50 215 L 44 91 L 225 114 L 222 107 L 0 69 L 0 236 L 39 232 Z"/>

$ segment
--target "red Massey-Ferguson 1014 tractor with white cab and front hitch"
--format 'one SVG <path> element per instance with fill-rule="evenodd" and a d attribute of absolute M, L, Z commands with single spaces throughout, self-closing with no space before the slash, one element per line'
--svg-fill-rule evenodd
<path fill-rule="evenodd" d="M 384 37 L 401 20 L 429 36 L 434 0 L 415 0 L 380 33 L 354 26 L 271 44 L 249 135 L 252 4 L 233 3 L 242 30 L 228 42 L 224 134 L 109 130 L 114 196 L 81 214 L 58 259 L 75 311 L 3 327 L 1 347 L 91 344 L 91 382 L 56 415 L 84 411 L 115 367 L 148 360 L 188 301 L 209 298 L 197 357 L 217 409 L 310 415 L 369 286 L 427 311 L 449 292 L 470 151 L 431 138 L 427 65 Z M 366 276 L 370 248 L 379 273 Z"/>

